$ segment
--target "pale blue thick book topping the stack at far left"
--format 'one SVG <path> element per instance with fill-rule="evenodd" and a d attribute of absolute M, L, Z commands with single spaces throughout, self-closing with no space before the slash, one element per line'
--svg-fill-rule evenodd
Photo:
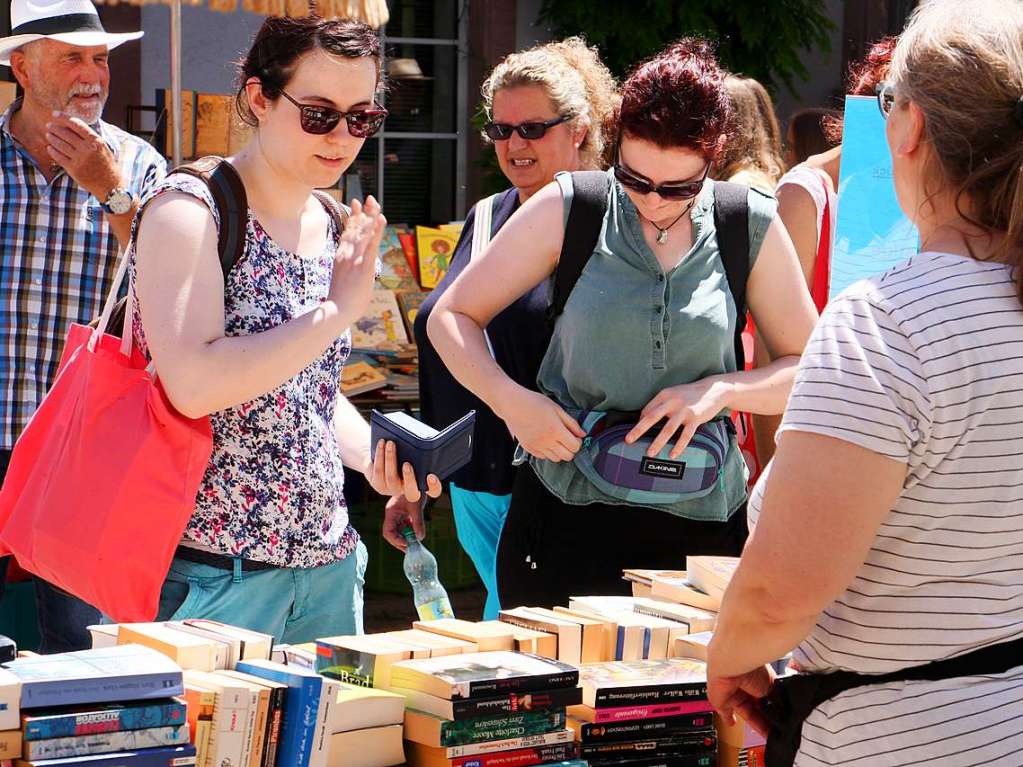
<path fill-rule="evenodd" d="M 32 656 L 5 667 L 21 680 L 21 708 L 148 701 L 184 692 L 181 667 L 139 644 Z"/>

